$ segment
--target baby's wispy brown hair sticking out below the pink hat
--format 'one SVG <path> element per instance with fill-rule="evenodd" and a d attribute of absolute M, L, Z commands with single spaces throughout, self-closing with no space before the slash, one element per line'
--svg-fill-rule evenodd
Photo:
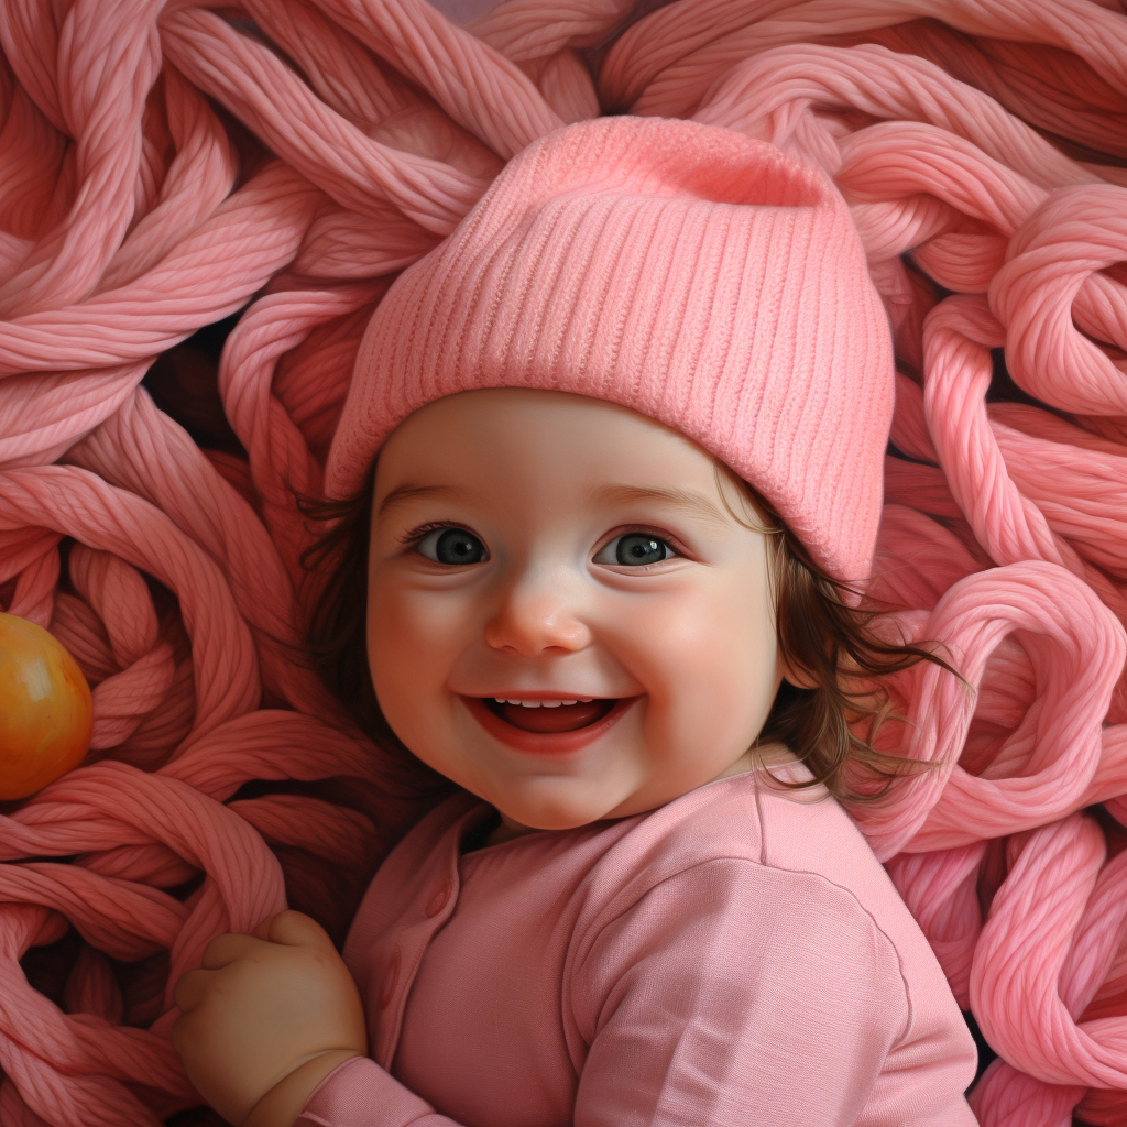
<path fill-rule="evenodd" d="M 739 482 L 761 524 L 748 524 L 729 505 L 733 517 L 769 535 L 780 657 L 814 686 L 783 681 L 756 740 L 784 744 L 806 763 L 813 779 L 784 782 L 772 775 L 772 786 L 800 790 L 822 783 L 840 800 L 871 802 L 896 779 L 939 767 L 937 760 L 888 755 L 873 746 L 881 725 L 905 718 L 891 709 L 887 689 L 871 678 L 919 662 L 932 662 L 964 678 L 924 644 L 882 640 L 871 627 L 880 611 L 850 605 L 850 588 L 810 558 L 764 498 L 718 462 L 717 482 L 726 504 L 721 477 Z M 369 672 L 365 616 L 374 483 L 373 465 L 360 492 L 349 499 L 300 502 L 307 518 L 327 525 L 302 556 L 310 582 L 320 585 L 313 598 L 309 653 L 321 680 L 353 719 L 394 755 L 399 781 L 418 795 L 438 795 L 456 788 L 399 742 L 380 711 Z M 858 735 L 858 728 L 864 735 Z"/>

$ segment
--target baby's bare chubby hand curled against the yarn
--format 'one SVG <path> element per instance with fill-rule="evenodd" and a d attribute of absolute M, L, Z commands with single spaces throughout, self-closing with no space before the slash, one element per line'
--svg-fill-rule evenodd
<path fill-rule="evenodd" d="M 309 1074 L 308 1092 L 291 1091 L 303 1086 L 294 1076 L 278 1092 L 285 1099 L 266 1101 L 292 1106 L 292 1122 L 336 1064 L 366 1051 L 356 984 L 332 940 L 309 916 L 282 912 L 254 935 L 219 935 L 202 961 L 202 969 L 176 984 L 183 1012 L 172 1044 L 188 1079 L 229 1122 L 243 1124 L 263 1097 L 323 1054 L 328 1071 L 311 1065 L 302 1072 Z"/>

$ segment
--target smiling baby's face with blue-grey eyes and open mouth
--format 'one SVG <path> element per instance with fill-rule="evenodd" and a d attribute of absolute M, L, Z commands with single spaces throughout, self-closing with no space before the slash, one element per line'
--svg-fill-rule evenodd
<path fill-rule="evenodd" d="M 767 543 L 722 490 L 694 443 L 602 400 L 496 389 L 416 411 L 372 514 L 392 729 L 514 828 L 639 814 L 753 765 L 781 681 Z"/>

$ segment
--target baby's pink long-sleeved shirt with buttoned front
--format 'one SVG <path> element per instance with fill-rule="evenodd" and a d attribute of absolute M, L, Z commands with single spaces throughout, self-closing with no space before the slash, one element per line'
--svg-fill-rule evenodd
<path fill-rule="evenodd" d="M 935 956 L 845 810 L 799 795 L 753 771 L 464 855 L 492 808 L 446 800 L 345 944 L 372 1058 L 298 1124 L 973 1127 Z"/>

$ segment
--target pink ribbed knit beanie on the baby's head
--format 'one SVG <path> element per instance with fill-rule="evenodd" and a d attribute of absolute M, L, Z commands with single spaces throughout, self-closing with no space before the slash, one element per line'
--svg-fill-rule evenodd
<path fill-rule="evenodd" d="M 600 117 L 514 157 L 367 327 L 327 469 L 345 497 L 411 411 L 474 388 L 607 399 L 749 481 L 863 582 L 893 409 L 888 319 L 820 169 L 730 130 Z"/>

